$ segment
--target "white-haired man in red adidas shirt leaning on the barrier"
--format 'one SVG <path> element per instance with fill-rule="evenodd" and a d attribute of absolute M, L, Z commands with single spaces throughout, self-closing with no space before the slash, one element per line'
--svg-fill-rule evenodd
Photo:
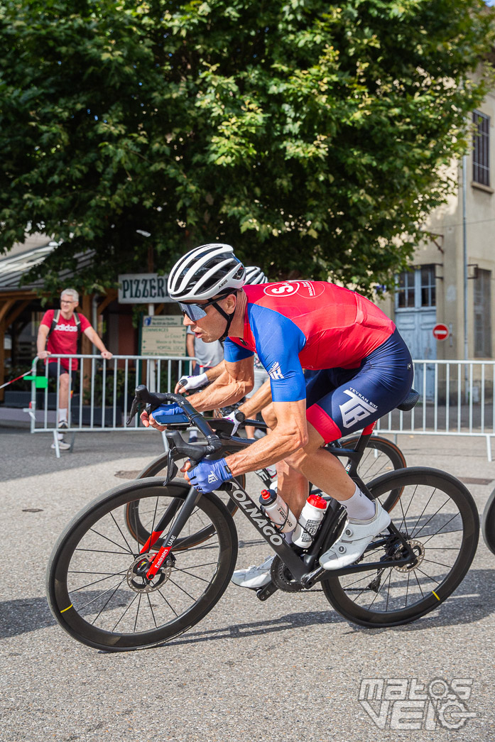
<path fill-rule="evenodd" d="M 43 315 L 38 329 L 36 346 L 38 358 L 45 360 L 48 364 L 48 376 L 56 378 L 58 359 L 49 358 L 54 354 L 75 355 L 77 353 L 77 341 L 79 335 L 84 334 L 96 345 L 102 354 L 102 358 L 111 358 L 112 354 L 105 348 L 105 344 L 99 335 L 91 327 L 88 319 L 80 312 L 76 312 L 79 303 L 79 294 L 76 289 L 64 289 L 60 295 L 60 309 L 48 309 Z M 60 359 L 59 378 L 59 430 L 66 430 L 68 424 L 69 407 L 69 373 L 72 383 L 76 375 L 79 363 L 77 358 Z M 55 448 L 55 444 L 51 444 Z M 64 441 L 62 433 L 59 433 L 59 448 L 68 450 L 71 446 Z"/>

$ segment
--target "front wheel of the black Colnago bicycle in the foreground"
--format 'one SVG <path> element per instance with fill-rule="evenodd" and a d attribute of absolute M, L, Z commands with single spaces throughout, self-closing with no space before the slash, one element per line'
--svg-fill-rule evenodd
<path fill-rule="evenodd" d="M 151 583 L 138 576 L 138 563 L 153 559 L 156 551 L 140 554 L 125 511 L 129 502 L 145 503 L 152 531 L 170 509 L 172 524 L 189 487 L 163 482 L 142 479 L 109 490 L 76 515 L 56 542 L 47 568 L 48 603 L 60 626 L 79 642 L 107 651 L 163 643 L 198 623 L 229 585 L 237 532 L 212 493 L 200 497 L 183 531 L 211 528 L 206 545 L 173 551 Z"/>

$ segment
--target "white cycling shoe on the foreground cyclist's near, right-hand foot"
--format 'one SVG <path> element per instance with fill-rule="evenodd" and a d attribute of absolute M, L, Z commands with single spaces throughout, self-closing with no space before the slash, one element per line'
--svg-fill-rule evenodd
<path fill-rule="evenodd" d="M 370 520 L 353 520 L 348 518 L 340 538 L 321 554 L 320 564 L 324 569 L 340 569 L 353 564 L 364 550 L 390 525 L 390 515 L 375 500 L 375 515 Z"/>

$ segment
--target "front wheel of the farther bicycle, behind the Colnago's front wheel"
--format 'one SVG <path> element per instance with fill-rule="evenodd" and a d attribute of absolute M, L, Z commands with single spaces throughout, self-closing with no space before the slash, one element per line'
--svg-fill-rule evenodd
<path fill-rule="evenodd" d="M 186 459 L 183 459 L 183 461 L 186 461 Z M 157 456 L 157 458 L 154 459 L 150 464 L 148 464 L 148 466 L 142 469 L 142 471 L 140 471 L 140 473 L 137 475 L 136 479 L 145 479 L 150 476 L 165 476 L 167 462 L 168 454 L 162 453 L 160 456 Z M 179 467 L 182 465 L 182 462 L 176 463 Z M 240 485 L 242 487 L 246 486 L 246 476 L 244 474 L 241 474 L 239 477 L 237 477 L 237 480 L 240 482 Z M 174 482 L 187 486 L 184 479 L 174 479 Z M 223 502 L 223 505 L 225 505 L 229 513 L 233 516 L 237 511 L 237 505 L 235 505 L 235 502 L 223 490 L 220 490 L 220 492 L 217 492 L 215 494 Z M 145 502 L 144 500 L 135 500 L 134 502 L 129 502 L 128 505 L 125 506 L 125 525 L 127 526 L 129 533 L 131 533 L 132 538 L 140 542 L 141 545 L 145 544 L 150 536 L 150 532 L 146 525 L 151 514 L 150 507 L 151 506 L 149 505 L 149 503 Z M 188 525 L 190 526 L 190 524 Z M 214 530 L 212 529 L 211 524 L 203 526 L 200 524 L 198 525 L 199 528 L 197 528 L 197 531 L 188 533 L 186 540 L 183 536 L 180 536 L 180 538 L 177 539 L 174 551 L 180 551 L 180 549 L 183 548 L 190 548 L 191 546 L 200 545 L 206 542 L 208 539 L 212 538 Z M 159 549 L 162 544 L 163 539 L 158 539 L 157 542 L 154 544 L 154 548 Z"/>

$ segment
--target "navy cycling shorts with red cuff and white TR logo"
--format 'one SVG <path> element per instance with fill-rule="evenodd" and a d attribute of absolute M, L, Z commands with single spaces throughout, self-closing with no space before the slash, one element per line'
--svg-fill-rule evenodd
<path fill-rule="evenodd" d="M 355 369 L 324 369 L 306 386 L 306 418 L 325 443 L 355 433 L 401 404 L 413 361 L 396 329 Z"/>

